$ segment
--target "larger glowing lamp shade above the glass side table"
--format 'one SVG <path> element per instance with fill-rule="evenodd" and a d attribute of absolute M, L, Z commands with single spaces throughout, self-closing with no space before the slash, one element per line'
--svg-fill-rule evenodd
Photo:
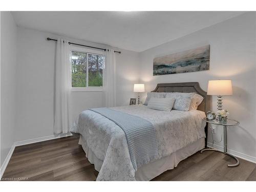
<path fill-rule="evenodd" d="M 231 80 L 210 80 L 207 95 L 232 95 Z"/>

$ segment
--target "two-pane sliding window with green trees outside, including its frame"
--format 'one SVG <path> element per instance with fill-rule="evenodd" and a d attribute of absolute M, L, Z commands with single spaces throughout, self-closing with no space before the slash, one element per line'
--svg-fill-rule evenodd
<path fill-rule="evenodd" d="M 72 91 L 102 91 L 104 56 L 91 50 L 71 51 Z"/>

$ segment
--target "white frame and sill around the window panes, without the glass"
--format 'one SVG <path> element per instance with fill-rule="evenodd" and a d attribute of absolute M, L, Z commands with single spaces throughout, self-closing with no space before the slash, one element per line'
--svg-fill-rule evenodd
<path fill-rule="evenodd" d="M 100 92 L 103 91 L 103 82 L 104 82 L 104 68 L 102 69 L 102 87 L 89 87 L 89 70 L 88 70 L 88 60 L 89 60 L 89 54 L 93 54 L 93 55 L 100 55 L 105 57 L 105 54 L 103 51 L 97 51 L 97 50 L 92 50 L 92 49 L 86 49 L 86 48 L 82 48 L 82 47 L 75 47 L 72 46 L 71 50 L 70 50 L 70 69 L 72 68 L 72 64 L 71 64 L 71 54 L 72 51 L 76 51 L 76 52 L 81 52 L 81 53 L 86 53 L 86 86 L 87 87 L 72 87 L 71 84 L 71 92 Z M 105 65 L 105 61 L 104 61 L 104 65 Z M 72 81 L 72 70 L 70 70 L 70 78 Z"/>

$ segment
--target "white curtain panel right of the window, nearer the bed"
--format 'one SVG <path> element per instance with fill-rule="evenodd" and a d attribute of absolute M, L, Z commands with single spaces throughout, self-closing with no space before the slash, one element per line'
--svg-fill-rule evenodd
<path fill-rule="evenodd" d="M 116 55 L 113 49 L 105 53 L 103 105 L 106 107 L 116 106 Z"/>

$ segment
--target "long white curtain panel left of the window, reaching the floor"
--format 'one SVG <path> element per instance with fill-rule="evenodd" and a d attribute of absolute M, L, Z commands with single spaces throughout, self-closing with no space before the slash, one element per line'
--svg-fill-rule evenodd
<path fill-rule="evenodd" d="M 55 111 L 54 133 L 68 133 L 72 125 L 70 120 L 71 90 L 71 47 L 67 40 L 58 39 L 55 74 Z"/>

